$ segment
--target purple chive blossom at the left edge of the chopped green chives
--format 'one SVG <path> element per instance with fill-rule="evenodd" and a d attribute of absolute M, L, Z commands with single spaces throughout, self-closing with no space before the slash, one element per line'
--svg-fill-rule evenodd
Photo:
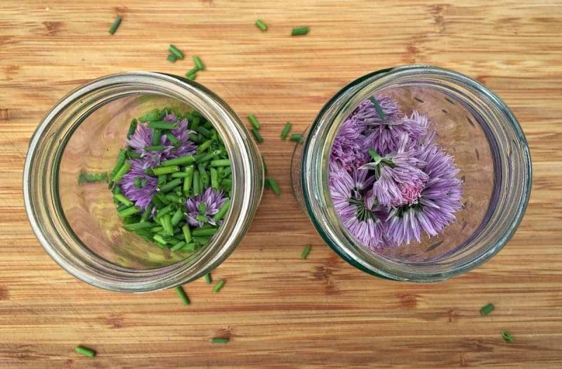
<path fill-rule="evenodd" d="M 157 181 L 155 176 L 145 174 L 144 160 L 132 159 L 131 169 L 123 176 L 119 184 L 121 185 L 121 192 L 126 198 L 134 202 L 135 206 L 145 209 L 156 193 Z M 136 186 L 139 182 L 141 188 Z"/>

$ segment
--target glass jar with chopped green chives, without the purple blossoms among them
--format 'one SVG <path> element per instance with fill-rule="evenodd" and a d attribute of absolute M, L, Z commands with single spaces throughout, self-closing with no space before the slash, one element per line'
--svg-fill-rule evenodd
<path fill-rule="evenodd" d="M 140 190 L 153 181 L 157 214 L 136 206 L 124 179 L 145 155 L 179 144 L 173 124 L 138 122 L 164 109 L 188 118 L 200 149 L 197 161 L 167 157 L 128 182 Z M 152 130 L 151 142 L 132 150 L 127 138 L 139 124 Z M 217 226 L 190 228 L 183 203 L 206 188 L 223 191 L 224 211 Z M 123 292 L 183 285 L 216 268 L 240 244 L 262 190 L 259 151 L 235 112 L 200 84 L 151 72 L 101 77 L 70 92 L 39 124 L 24 172 L 27 214 L 48 254 L 86 283 Z"/>

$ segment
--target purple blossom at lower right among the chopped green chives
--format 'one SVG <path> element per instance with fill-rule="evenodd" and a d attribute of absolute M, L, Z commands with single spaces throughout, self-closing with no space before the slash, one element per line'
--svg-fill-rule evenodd
<path fill-rule="evenodd" d="M 207 188 L 200 195 L 188 198 L 185 201 L 188 223 L 194 227 L 202 227 L 206 223 L 216 226 L 213 216 L 218 213 L 218 209 L 221 209 L 226 200 L 223 191 L 214 190 L 212 187 Z"/>

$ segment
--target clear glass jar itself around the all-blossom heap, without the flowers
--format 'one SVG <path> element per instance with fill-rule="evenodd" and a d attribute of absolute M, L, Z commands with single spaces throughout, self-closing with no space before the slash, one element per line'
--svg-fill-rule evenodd
<path fill-rule="evenodd" d="M 376 251 L 359 245 L 341 224 L 327 184 L 339 127 L 373 95 L 392 96 L 406 114 L 428 115 L 464 181 L 463 209 L 442 234 Z M 504 247 L 528 204 L 531 161 L 521 127 L 495 93 L 457 72 L 414 65 L 373 72 L 336 93 L 296 146 L 292 185 L 318 233 L 350 264 L 383 278 L 433 282 L 469 271 Z"/>

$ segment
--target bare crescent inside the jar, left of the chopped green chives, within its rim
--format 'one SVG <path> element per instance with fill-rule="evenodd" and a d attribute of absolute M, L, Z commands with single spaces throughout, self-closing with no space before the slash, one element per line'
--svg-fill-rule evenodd
<path fill-rule="evenodd" d="M 155 108 L 167 107 L 182 113 L 192 110 L 174 98 L 152 93 L 121 95 L 99 105 L 72 132 L 60 160 L 58 199 L 67 224 L 85 248 L 117 266 L 158 268 L 196 258 L 204 249 L 170 252 L 125 231 L 107 182 L 78 183 L 81 171 L 89 174 L 112 171 L 132 119 Z"/>

